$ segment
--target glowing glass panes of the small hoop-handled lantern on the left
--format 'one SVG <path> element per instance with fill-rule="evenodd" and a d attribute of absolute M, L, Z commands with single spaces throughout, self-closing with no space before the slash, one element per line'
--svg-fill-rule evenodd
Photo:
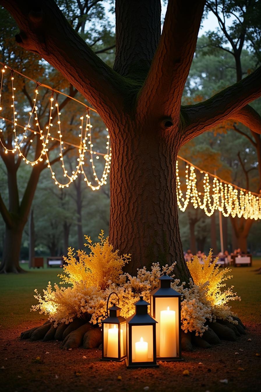
<path fill-rule="evenodd" d="M 120 355 L 119 355 L 119 328 L 120 328 Z M 103 324 L 104 357 L 121 358 L 126 355 L 126 323 Z"/>

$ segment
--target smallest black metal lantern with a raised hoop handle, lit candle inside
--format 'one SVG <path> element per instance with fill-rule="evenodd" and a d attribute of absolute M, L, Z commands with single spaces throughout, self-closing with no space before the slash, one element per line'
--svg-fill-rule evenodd
<path fill-rule="evenodd" d="M 102 325 L 102 360 L 104 361 L 122 361 L 126 358 L 126 319 L 120 315 L 121 308 L 113 303 L 108 309 L 109 299 L 107 300 L 107 318 L 101 322 Z M 108 313 L 108 310 L 110 311 Z"/>

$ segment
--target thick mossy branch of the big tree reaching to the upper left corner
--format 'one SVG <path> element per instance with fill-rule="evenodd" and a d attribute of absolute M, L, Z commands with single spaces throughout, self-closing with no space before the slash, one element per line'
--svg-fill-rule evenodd
<path fill-rule="evenodd" d="M 1 0 L 0 4 L 18 23 L 18 44 L 58 69 L 104 121 L 119 112 L 127 82 L 94 54 L 54 0 Z"/>

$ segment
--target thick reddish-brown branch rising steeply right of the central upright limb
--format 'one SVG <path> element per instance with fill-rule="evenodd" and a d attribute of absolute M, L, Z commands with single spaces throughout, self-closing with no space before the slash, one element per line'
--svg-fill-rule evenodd
<path fill-rule="evenodd" d="M 173 122 L 179 120 L 204 4 L 205 0 L 169 1 L 160 43 L 140 93 L 139 103 L 145 100 L 151 113 L 170 117 Z"/>

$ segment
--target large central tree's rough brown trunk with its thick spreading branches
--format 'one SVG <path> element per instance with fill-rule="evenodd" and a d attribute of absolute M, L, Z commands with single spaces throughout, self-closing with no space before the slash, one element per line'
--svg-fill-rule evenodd
<path fill-rule="evenodd" d="M 160 37 L 160 0 L 116 0 L 114 70 L 95 56 L 54 0 L 1 4 L 20 27 L 16 41 L 61 71 L 109 129 L 110 241 L 132 254 L 128 271 L 177 261 L 176 276 L 187 281 L 176 204 L 178 149 L 240 111 L 246 125 L 258 122 L 246 105 L 261 95 L 261 70 L 205 102 L 181 107 L 205 1 L 170 0 Z"/>

